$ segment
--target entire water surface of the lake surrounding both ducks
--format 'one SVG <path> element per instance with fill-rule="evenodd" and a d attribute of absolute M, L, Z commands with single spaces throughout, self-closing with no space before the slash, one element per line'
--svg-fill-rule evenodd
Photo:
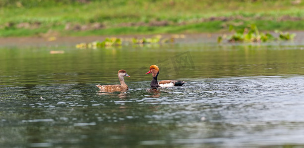
<path fill-rule="evenodd" d="M 0 146 L 303 146 L 303 48 L 3 48 Z M 151 64 L 187 83 L 149 88 Z M 119 69 L 130 90 L 98 91 Z"/>

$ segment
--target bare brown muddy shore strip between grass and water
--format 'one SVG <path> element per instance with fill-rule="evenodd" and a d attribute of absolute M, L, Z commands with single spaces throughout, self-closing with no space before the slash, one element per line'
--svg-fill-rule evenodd
<path fill-rule="evenodd" d="M 296 37 L 290 43 L 303 45 L 304 31 L 290 31 L 295 33 Z M 200 33 L 200 34 L 183 34 L 185 38 L 176 38 L 176 43 L 216 43 L 219 33 Z M 129 38 L 153 37 L 155 35 L 120 35 L 120 36 L 86 36 L 86 37 L 0 37 L 0 46 L 74 46 L 81 42 L 101 41 L 106 37 L 118 37 L 122 40 Z M 162 35 L 163 38 L 172 37 L 172 34 Z M 282 42 L 278 42 L 282 43 Z"/>

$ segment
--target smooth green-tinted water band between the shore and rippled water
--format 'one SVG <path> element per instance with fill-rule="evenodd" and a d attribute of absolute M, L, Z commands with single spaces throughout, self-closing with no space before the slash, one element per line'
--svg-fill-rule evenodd
<path fill-rule="evenodd" d="M 218 46 L 172 44 L 120 49 L 9 48 L 0 50 L 2 84 L 65 82 L 108 83 L 124 69 L 126 81 L 150 80 L 152 64 L 159 78 L 208 78 L 239 75 L 303 74 L 303 46 Z M 63 50 L 63 54 L 50 54 Z"/>

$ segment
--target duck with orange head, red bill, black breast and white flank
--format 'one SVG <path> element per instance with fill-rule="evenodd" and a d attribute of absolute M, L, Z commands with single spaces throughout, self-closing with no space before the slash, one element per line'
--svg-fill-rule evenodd
<path fill-rule="evenodd" d="M 149 68 L 149 72 L 146 74 L 152 73 L 152 81 L 150 83 L 151 87 L 171 87 L 171 86 L 182 86 L 184 84 L 184 81 L 180 80 L 162 80 L 162 81 L 157 81 L 157 76 L 159 74 L 159 68 L 156 65 L 151 65 Z"/>

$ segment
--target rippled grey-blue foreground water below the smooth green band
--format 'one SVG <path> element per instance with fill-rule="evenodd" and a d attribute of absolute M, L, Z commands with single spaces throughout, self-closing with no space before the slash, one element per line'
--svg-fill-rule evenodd
<path fill-rule="evenodd" d="M 98 139 L 131 137 L 143 146 L 303 144 L 303 75 L 185 81 L 183 86 L 158 89 L 149 88 L 147 81 L 131 82 L 129 91 L 102 94 L 92 83 L 41 84 L 26 91 L 22 86 L 0 87 L 1 133 L 23 135 L 23 127 L 33 128 L 27 130 L 52 139 L 46 146 L 64 143 L 50 135 L 92 140 L 87 130 Z"/>

